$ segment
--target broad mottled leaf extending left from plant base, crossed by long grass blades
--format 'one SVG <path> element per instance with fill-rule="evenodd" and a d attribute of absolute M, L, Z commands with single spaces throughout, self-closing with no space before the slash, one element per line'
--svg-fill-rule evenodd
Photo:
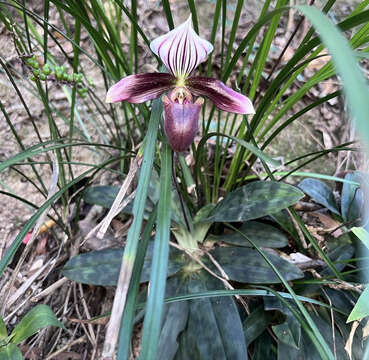
<path fill-rule="evenodd" d="M 150 241 L 142 268 L 141 282 L 147 282 L 150 279 L 153 248 L 154 241 Z M 123 248 L 104 249 L 77 255 L 65 264 L 63 275 L 83 284 L 115 286 L 119 277 L 123 251 Z M 180 252 L 171 248 L 167 275 L 175 274 L 181 267 Z"/>

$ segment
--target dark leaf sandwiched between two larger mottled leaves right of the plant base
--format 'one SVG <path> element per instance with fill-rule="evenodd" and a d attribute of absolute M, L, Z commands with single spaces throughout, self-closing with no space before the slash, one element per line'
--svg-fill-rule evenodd
<path fill-rule="evenodd" d="M 257 221 L 247 221 L 239 228 L 239 231 L 254 241 L 258 246 L 268 248 L 282 248 L 288 245 L 287 237 L 274 226 Z M 244 236 L 233 232 L 219 236 L 211 236 L 208 239 L 223 241 L 228 244 L 252 247 Z"/>

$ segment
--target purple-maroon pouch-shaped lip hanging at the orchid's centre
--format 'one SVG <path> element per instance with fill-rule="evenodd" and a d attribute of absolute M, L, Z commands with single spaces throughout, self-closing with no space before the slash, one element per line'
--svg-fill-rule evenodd
<path fill-rule="evenodd" d="M 164 106 L 164 130 L 174 151 L 185 151 L 192 143 L 198 130 L 198 119 L 203 99 L 195 103 L 179 104 L 162 98 Z"/>

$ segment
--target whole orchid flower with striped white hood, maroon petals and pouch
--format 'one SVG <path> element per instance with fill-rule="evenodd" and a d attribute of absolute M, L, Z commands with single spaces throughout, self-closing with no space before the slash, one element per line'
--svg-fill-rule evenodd
<path fill-rule="evenodd" d="M 164 130 L 174 151 L 185 151 L 198 131 L 198 118 L 206 96 L 219 109 L 238 114 L 254 114 L 251 100 L 220 80 L 192 76 L 196 67 L 213 51 L 213 45 L 192 28 L 191 16 L 182 25 L 153 40 L 151 50 L 163 61 L 169 73 L 129 75 L 113 85 L 106 102 L 142 103 L 162 97 Z"/>

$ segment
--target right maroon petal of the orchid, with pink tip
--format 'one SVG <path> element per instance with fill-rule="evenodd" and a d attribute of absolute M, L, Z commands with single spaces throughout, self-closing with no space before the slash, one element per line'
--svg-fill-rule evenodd
<path fill-rule="evenodd" d="M 251 100 L 220 80 L 202 76 L 186 80 L 186 87 L 195 95 L 208 97 L 219 109 L 238 114 L 255 114 Z"/>

